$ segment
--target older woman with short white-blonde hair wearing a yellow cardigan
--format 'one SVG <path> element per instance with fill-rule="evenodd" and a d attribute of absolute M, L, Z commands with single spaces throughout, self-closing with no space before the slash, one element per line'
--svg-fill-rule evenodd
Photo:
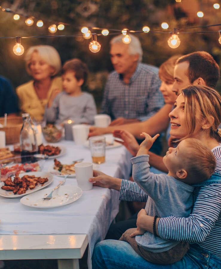
<path fill-rule="evenodd" d="M 51 94 L 62 91 L 61 69 L 57 50 L 48 45 L 32 46 L 25 55 L 26 70 L 33 77 L 16 88 L 20 109 L 36 120 L 42 120 Z"/>

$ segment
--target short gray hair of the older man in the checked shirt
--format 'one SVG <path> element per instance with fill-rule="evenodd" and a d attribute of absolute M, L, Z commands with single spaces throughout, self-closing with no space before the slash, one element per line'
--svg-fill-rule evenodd
<path fill-rule="evenodd" d="M 139 55 L 138 62 L 141 62 L 142 56 L 143 56 L 141 42 L 136 36 L 134 36 L 132 34 L 129 34 L 129 36 L 131 38 L 131 42 L 128 44 L 128 53 L 129 53 L 129 55 L 138 54 Z M 115 43 L 123 43 L 123 41 L 122 41 L 123 37 L 124 36 L 122 34 L 119 36 L 115 36 L 114 38 L 111 39 L 110 44 L 113 45 Z"/>

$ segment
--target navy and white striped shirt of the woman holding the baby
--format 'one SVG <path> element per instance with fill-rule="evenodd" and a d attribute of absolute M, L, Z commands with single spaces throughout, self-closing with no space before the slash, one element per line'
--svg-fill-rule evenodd
<path fill-rule="evenodd" d="M 221 146 L 212 149 L 221 174 Z M 200 246 L 221 258 L 221 184 L 196 187 L 196 201 L 188 218 L 160 218 L 158 233 L 168 240 L 198 242 Z M 120 200 L 147 201 L 147 194 L 135 182 L 122 180 Z"/>

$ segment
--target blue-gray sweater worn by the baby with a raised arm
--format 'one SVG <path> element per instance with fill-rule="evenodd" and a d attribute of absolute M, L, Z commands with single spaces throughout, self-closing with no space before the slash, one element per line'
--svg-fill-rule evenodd
<path fill-rule="evenodd" d="M 131 158 L 134 181 L 148 194 L 147 215 L 188 217 L 193 205 L 193 187 L 166 174 L 150 172 L 149 155 Z M 144 249 L 158 253 L 171 249 L 178 241 L 165 240 L 150 232 L 135 237 Z"/>

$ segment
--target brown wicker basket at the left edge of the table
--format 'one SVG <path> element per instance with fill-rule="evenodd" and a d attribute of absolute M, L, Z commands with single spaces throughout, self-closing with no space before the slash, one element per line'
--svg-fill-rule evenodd
<path fill-rule="evenodd" d="M 4 117 L 0 117 L 0 123 L 4 125 Z M 2 128 L 0 127 L 0 131 L 5 131 L 6 145 L 19 142 L 22 124 L 22 117 L 8 117 L 7 125 Z"/>

